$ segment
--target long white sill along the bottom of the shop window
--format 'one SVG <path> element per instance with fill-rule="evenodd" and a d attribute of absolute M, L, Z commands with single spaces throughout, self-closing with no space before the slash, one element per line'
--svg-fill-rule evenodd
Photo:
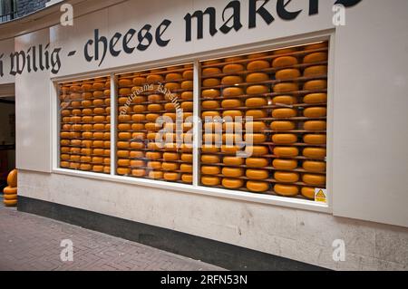
<path fill-rule="evenodd" d="M 150 187 L 150 188 L 161 188 L 169 189 L 176 192 L 183 192 L 189 194 L 197 194 L 209 197 L 219 197 L 227 198 L 233 200 L 240 200 L 249 203 L 264 204 L 277 207 L 291 207 L 296 209 L 304 209 L 309 211 L 316 211 L 320 213 L 331 213 L 331 207 L 318 204 L 313 201 L 308 201 L 299 198 L 290 198 L 290 197 L 277 197 L 271 195 L 261 195 L 253 194 L 241 191 L 232 191 L 222 188 L 206 188 L 206 187 L 194 187 L 190 185 L 183 185 L 179 183 L 170 183 L 164 181 L 156 181 L 151 179 L 143 178 L 128 178 L 121 176 L 112 176 L 112 175 L 102 175 L 92 172 L 83 172 L 83 171 L 72 171 L 69 169 L 53 169 L 53 173 L 59 175 L 72 176 L 77 178 L 92 178 L 104 181 L 112 181 L 122 184 Z"/>

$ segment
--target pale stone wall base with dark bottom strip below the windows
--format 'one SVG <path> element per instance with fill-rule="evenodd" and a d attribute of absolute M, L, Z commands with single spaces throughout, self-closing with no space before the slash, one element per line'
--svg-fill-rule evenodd
<path fill-rule="evenodd" d="M 408 229 L 403 227 L 24 170 L 18 187 L 24 212 L 227 269 L 408 269 Z M 345 261 L 335 261 L 342 242 Z"/>

